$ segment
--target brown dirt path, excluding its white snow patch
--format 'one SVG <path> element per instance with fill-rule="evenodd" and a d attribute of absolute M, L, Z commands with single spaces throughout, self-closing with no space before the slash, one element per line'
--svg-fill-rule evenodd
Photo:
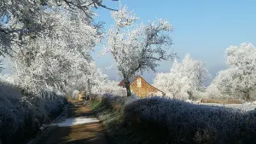
<path fill-rule="evenodd" d="M 68 118 L 95 118 L 89 107 L 83 107 L 83 102 L 71 101 L 68 107 Z M 52 126 L 45 132 L 36 144 L 108 144 L 102 124 L 77 124 L 67 127 Z"/>

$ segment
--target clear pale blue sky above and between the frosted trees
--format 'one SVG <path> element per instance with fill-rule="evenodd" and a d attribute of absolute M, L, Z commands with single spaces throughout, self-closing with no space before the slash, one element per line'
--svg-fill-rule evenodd
<path fill-rule="evenodd" d="M 119 3 L 105 0 L 111 8 L 118 8 Z M 212 78 L 216 72 L 225 68 L 224 51 L 230 45 L 243 42 L 256 44 L 256 1 L 253 0 L 122 0 L 122 5 L 134 9 L 140 20 L 169 20 L 174 29 L 172 32 L 174 52 L 180 59 L 186 53 L 192 58 L 200 59 L 207 64 Z M 108 32 L 113 24 L 110 12 L 106 9 L 97 9 L 100 14 L 96 20 L 105 22 L 104 28 Z M 106 70 L 105 66 L 113 63 L 111 56 L 96 57 L 102 49 L 96 47 L 92 53 L 96 65 L 103 68 L 111 79 L 116 78 L 115 70 Z M 160 62 L 158 72 L 168 72 L 172 61 Z M 145 72 L 143 77 L 152 83 L 154 72 Z"/>

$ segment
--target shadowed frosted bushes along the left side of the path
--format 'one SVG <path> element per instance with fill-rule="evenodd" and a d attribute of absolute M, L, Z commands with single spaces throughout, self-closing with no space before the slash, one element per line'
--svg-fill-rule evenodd
<path fill-rule="evenodd" d="M 67 100 L 61 95 L 40 99 L 20 95 L 20 89 L 9 84 L 0 86 L 0 141 L 4 144 L 24 141 L 39 130 L 41 124 L 55 118 Z"/>

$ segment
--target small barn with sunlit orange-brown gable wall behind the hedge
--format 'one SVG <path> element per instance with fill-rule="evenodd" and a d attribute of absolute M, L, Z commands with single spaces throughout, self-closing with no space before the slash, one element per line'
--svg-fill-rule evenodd
<path fill-rule="evenodd" d="M 121 81 L 118 85 L 125 88 L 124 81 Z M 151 84 L 148 84 L 148 82 L 141 76 L 137 76 L 131 81 L 130 88 L 133 94 L 138 95 L 140 97 L 165 95 L 165 93 L 162 92 L 160 89 L 157 89 Z"/>

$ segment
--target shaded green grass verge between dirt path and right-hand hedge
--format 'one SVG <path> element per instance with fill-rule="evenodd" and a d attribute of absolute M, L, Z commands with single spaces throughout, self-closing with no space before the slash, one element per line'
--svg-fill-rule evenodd
<path fill-rule="evenodd" d="M 90 101 L 90 108 L 96 113 L 106 130 L 110 144 L 146 144 L 142 135 L 138 135 L 134 129 L 123 122 L 123 113 L 119 107 L 106 107 L 102 101 Z"/>

